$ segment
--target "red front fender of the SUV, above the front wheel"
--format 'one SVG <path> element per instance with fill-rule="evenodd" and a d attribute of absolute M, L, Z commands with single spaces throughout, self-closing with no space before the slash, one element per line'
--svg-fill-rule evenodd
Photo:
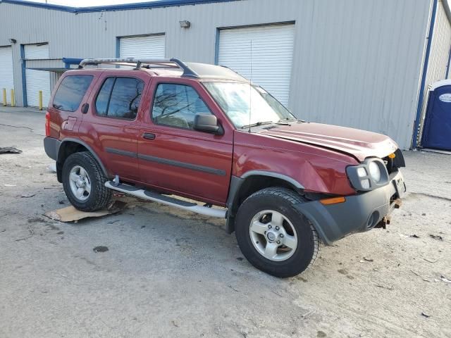
<path fill-rule="evenodd" d="M 291 177 L 309 192 L 350 195 L 355 190 L 347 180 L 351 156 L 309 144 L 269 137 L 263 133 L 235 131 L 233 175 L 266 170 Z"/>

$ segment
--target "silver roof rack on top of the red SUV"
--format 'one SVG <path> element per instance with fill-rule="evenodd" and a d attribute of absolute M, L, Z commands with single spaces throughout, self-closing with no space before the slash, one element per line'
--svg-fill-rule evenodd
<path fill-rule="evenodd" d="M 130 65 L 135 69 L 146 68 L 180 68 L 183 70 L 182 76 L 199 78 L 186 63 L 178 60 L 178 58 L 85 58 L 80 62 L 78 68 L 84 68 L 85 65 Z"/>

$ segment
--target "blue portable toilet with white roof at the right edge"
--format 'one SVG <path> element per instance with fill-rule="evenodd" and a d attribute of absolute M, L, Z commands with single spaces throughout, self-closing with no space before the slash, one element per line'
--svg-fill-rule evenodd
<path fill-rule="evenodd" d="M 451 80 L 435 82 L 429 89 L 421 146 L 451 151 Z"/>

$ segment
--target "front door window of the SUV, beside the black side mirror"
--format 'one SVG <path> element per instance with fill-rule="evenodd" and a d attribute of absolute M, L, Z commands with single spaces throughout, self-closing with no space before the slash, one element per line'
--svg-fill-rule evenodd
<path fill-rule="evenodd" d="M 190 86 L 161 83 L 156 87 L 152 119 L 156 124 L 193 129 L 196 114 L 211 114 Z"/>

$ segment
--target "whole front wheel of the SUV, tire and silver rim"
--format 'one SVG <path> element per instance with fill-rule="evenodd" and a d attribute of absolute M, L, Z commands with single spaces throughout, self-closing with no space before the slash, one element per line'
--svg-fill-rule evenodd
<path fill-rule="evenodd" d="M 294 208 L 302 196 L 272 187 L 249 196 L 235 223 L 238 245 L 256 268 L 276 277 L 302 273 L 319 251 L 319 237 L 311 222 Z"/>

